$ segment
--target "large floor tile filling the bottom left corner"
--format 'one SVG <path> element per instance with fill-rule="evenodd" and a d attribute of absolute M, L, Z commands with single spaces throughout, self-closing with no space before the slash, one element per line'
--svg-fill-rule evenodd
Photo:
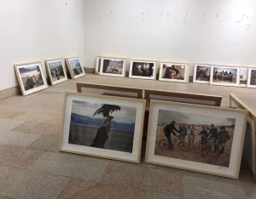
<path fill-rule="evenodd" d="M 70 178 L 24 170 L 0 167 L 0 194 L 19 199 L 57 198 Z"/>

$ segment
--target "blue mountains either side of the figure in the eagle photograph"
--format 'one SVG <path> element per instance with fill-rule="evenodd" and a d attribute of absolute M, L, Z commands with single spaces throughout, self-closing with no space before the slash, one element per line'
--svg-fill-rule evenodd
<path fill-rule="evenodd" d="M 71 123 L 75 125 L 82 126 L 90 126 L 99 128 L 102 126 L 102 123 L 105 121 L 104 118 L 93 118 L 93 117 L 85 117 L 79 114 L 72 113 L 71 114 Z M 124 122 L 111 122 L 111 129 L 125 131 L 125 132 L 134 132 L 135 123 L 124 123 Z"/>

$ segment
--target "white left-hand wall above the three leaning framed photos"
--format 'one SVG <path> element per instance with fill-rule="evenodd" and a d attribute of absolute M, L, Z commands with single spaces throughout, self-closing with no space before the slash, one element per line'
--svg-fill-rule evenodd
<path fill-rule="evenodd" d="M 83 58 L 83 4 L 83 0 L 0 0 L 0 90 L 18 85 L 17 62 L 39 60 L 44 65 L 49 58 L 76 54 Z"/>

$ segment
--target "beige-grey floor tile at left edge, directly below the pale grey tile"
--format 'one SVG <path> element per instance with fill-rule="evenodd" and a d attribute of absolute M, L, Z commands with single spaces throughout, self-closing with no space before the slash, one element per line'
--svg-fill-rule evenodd
<path fill-rule="evenodd" d="M 43 154 L 43 151 L 27 150 L 10 145 L 0 145 L 0 165 L 14 168 L 27 168 Z"/>

